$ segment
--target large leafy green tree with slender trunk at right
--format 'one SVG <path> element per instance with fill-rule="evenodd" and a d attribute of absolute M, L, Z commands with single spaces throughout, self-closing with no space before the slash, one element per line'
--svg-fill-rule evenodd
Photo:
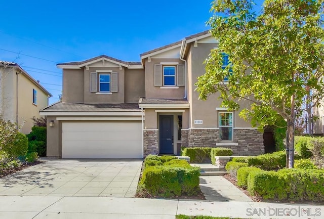
<path fill-rule="evenodd" d="M 323 1 L 265 0 L 257 14 L 251 0 L 218 0 L 211 11 L 209 25 L 219 44 L 196 83 L 199 98 L 217 92 L 229 110 L 249 101 L 239 115 L 260 129 L 284 118 L 292 168 L 295 118 L 323 97 Z M 224 69 L 223 53 L 230 61 Z"/>

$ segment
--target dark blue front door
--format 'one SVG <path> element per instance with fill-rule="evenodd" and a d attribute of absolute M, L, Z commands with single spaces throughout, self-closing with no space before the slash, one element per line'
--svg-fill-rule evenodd
<path fill-rule="evenodd" d="M 160 115 L 160 154 L 173 154 L 173 115 Z"/>

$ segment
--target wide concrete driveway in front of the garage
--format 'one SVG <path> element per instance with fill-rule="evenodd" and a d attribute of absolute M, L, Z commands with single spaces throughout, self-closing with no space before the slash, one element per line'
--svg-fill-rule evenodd
<path fill-rule="evenodd" d="M 46 160 L 0 179 L 0 196 L 134 197 L 140 159 Z"/>

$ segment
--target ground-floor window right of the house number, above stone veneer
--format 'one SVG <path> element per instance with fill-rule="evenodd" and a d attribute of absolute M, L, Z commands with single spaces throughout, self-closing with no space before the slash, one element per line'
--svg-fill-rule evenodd
<path fill-rule="evenodd" d="M 218 122 L 219 122 L 219 140 L 233 141 L 233 113 L 219 112 Z"/>

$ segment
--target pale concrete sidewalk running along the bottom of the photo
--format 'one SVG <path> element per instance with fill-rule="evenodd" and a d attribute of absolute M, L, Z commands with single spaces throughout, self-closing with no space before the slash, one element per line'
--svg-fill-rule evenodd
<path fill-rule="evenodd" d="M 317 208 L 317 209 L 316 209 Z M 281 210 L 280 210 L 281 209 Z M 284 210 L 286 209 L 286 210 Z M 303 211 L 304 209 L 304 211 Z M 305 211 L 307 210 L 307 212 Z M 265 212 L 263 215 L 262 212 Z M 283 215 L 291 213 L 294 216 Z M 304 212 L 304 213 L 302 213 Z M 321 215 L 312 214 L 320 213 Z M 296 214 L 297 213 L 297 214 Z M 299 215 L 298 215 L 299 213 Z M 0 218 L 165 218 L 177 214 L 241 218 L 323 218 L 324 206 L 246 201 L 116 197 L 2 196 Z M 296 214 L 296 215 L 295 215 Z M 302 215 L 303 214 L 303 215 Z"/>

